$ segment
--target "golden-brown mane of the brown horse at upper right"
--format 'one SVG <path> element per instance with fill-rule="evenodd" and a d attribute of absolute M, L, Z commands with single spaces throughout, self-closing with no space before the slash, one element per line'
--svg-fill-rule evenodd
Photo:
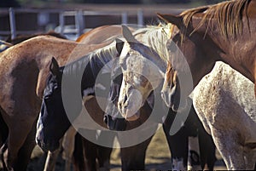
<path fill-rule="evenodd" d="M 183 16 L 184 25 L 189 26 L 189 22 L 192 20 L 193 15 L 204 13 L 200 24 L 194 31 L 198 30 L 205 22 L 208 22 L 209 25 L 210 21 L 215 19 L 217 20 L 218 30 L 224 37 L 236 37 L 238 34 L 241 34 L 242 16 L 243 14 L 247 14 L 247 6 L 250 1 L 251 0 L 231 0 L 209 6 L 189 9 L 180 15 Z M 194 31 L 192 31 L 192 33 Z"/>

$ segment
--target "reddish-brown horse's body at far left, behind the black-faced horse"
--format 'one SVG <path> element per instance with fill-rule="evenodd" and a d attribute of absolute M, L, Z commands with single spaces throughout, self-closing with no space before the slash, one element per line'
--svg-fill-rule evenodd
<path fill-rule="evenodd" d="M 118 26 L 113 27 L 116 35 L 118 28 L 115 27 Z M 97 36 L 105 34 L 104 29 L 102 32 L 100 30 L 90 33 Z M 68 59 L 77 59 L 91 50 L 105 46 L 109 41 L 112 42 L 104 39 L 102 44 L 89 45 L 39 36 L 0 54 L 0 64 L 6 66 L 0 69 L 0 106 L 3 120 L 9 128 L 8 139 L 1 147 L 1 157 L 6 157 L 3 165 L 7 169 L 26 170 L 35 145 L 36 119 L 52 56 L 55 56 L 60 65 L 64 65 Z"/>

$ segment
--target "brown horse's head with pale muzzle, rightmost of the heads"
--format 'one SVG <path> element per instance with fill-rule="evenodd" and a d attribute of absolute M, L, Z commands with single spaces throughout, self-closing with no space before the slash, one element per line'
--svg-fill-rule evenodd
<path fill-rule="evenodd" d="M 190 36 L 193 31 L 192 26 L 186 26 L 182 16 L 172 14 L 159 14 L 159 16 L 160 19 L 173 24 L 171 37 L 166 43 L 169 62 L 161 95 L 166 105 L 173 111 L 182 111 L 187 105 L 187 98 L 194 88 L 194 83 L 196 85 L 201 77 L 211 71 L 214 63 L 205 58 L 206 51 L 201 48 L 203 43 L 201 31 L 196 31 Z"/>

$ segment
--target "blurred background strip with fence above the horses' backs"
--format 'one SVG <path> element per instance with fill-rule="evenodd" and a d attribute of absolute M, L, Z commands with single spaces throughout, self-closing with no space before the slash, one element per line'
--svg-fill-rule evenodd
<path fill-rule="evenodd" d="M 1 0 L 0 39 L 56 31 L 75 40 L 97 26 L 154 25 L 159 22 L 157 12 L 179 14 L 218 2 L 221 0 Z"/>

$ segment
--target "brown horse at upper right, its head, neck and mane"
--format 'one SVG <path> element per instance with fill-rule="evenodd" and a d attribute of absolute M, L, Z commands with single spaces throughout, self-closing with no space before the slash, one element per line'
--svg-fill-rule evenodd
<path fill-rule="evenodd" d="M 184 102 L 202 77 L 212 71 L 215 61 L 222 60 L 240 71 L 255 85 L 256 95 L 256 2 L 253 0 L 233 0 L 207 7 L 189 9 L 182 14 L 158 14 L 160 19 L 172 23 L 174 28 L 167 48 L 173 56 L 166 83 L 162 89 L 163 99 L 173 110 L 179 101 Z M 176 45 L 175 45 L 175 44 Z M 189 67 L 175 55 L 177 48 L 183 53 Z M 183 88 L 176 77 L 192 75 L 192 88 Z M 180 77 L 181 78 L 181 77 Z M 182 92 L 182 97 L 177 96 Z"/>

